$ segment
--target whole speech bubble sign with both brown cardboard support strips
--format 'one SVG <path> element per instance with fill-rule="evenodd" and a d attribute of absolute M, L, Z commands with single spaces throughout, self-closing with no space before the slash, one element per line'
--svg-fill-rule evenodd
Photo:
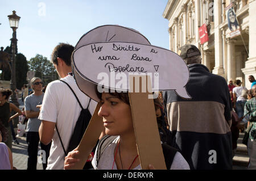
<path fill-rule="evenodd" d="M 122 50 L 113 50 L 111 49 L 111 47 L 114 46 L 113 43 L 119 43 L 120 46 L 125 46 L 125 48 L 121 48 Z M 159 90 L 176 90 L 178 94 L 180 94 L 184 98 L 188 98 L 189 95 L 185 91 L 184 86 L 188 82 L 189 73 L 187 65 L 185 65 L 185 62 L 179 56 L 177 56 L 177 54 L 171 52 L 170 50 L 148 45 L 150 45 L 150 43 L 146 39 L 146 37 L 131 28 L 116 25 L 100 26 L 94 28 L 88 33 L 85 33 L 85 35 L 82 36 L 77 43 L 75 51 L 72 54 L 72 69 L 79 89 L 97 102 L 100 101 L 96 94 L 97 85 L 101 84 L 99 81 L 102 81 L 101 79 L 98 79 L 98 77 L 103 78 L 104 76 L 106 76 L 109 78 L 109 75 L 111 77 L 114 74 L 115 79 L 110 78 L 109 81 L 103 81 L 104 85 L 106 82 L 108 82 L 107 87 L 112 87 L 112 89 L 114 87 L 115 89 L 117 88 L 116 90 L 123 90 L 122 83 L 127 82 L 127 85 L 133 85 L 133 88 L 135 88 L 136 91 L 136 87 L 138 85 L 135 82 L 129 82 L 131 81 L 129 80 L 129 77 L 135 77 L 136 79 L 140 76 L 135 75 L 127 77 L 127 73 L 129 74 L 129 71 L 126 72 L 126 70 L 128 69 L 127 64 L 129 64 L 129 67 L 131 67 L 131 64 L 135 67 L 143 67 L 143 70 L 137 70 L 147 71 L 144 73 L 150 73 L 151 71 L 151 78 L 158 78 L 158 82 L 156 81 L 156 83 L 155 80 L 152 80 L 152 84 L 154 86 L 151 86 L 150 81 L 139 81 L 139 87 L 143 87 L 143 85 L 145 84 L 149 86 L 147 87 L 146 93 L 143 93 L 143 90 L 142 92 L 138 92 L 138 94 L 129 92 L 129 100 L 131 106 L 131 114 L 133 115 L 137 149 L 142 169 L 148 169 L 148 163 L 153 163 L 156 169 L 166 169 L 163 153 L 162 151 L 159 152 L 159 150 L 162 150 L 162 148 L 160 146 L 160 138 L 155 121 L 156 117 L 154 113 L 154 103 L 152 102 L 152 99 L 147 98 L 147 95 L 152 95 L 151 90 L 156 90 L 155 87 L 158 87 Z M 98 46 L 102 46 L 102 48 L 99 48 Z M 125 50 L 126 46 L 129 50 Z M 150 52 L 148 52 L 148 50 L 150 50 Z M 114 51 L 116 52 L 113 54 Z M 133 51 L 137 52 L 136 57 L 134 56 Z M 144 59 L 141 58 L 141 60 L 137 60 L 137 57 L 142 56 L 144 56 Z M 112 63 L 113 65 L 118 66 L 114 66 L 113 69 L 110 69 L 109 65 L 112 64 L 106 65 L 107 62 L 105 62 L 104 64 L 104 61 L 107 60 L 106 58 L 108 58 L 108 60 L 112 59 L 111 61 L 118 61 L 118 64 Z M 139 61 L 141 61 L 141 63 L 139 63 Z M 146 61 L 146 63 L 144 61 Z M 119 66 L 124 68 L 119 69 Z M 115 75 L 115 72 L 110 70 L 117 70 L 117 74 Z M 135 70 L 135 73 L 141 73 L 141 71 L 136 72 Z M 100 76 L 98 76 L 99 73 Z M 124 79 L 125 81 L 123 81 L 122 77 L 126 77 L 126 79 Z M 143 80 L 143 78 L 145 77 L 148 76 L 141 76 L 141 79 Z M 151 78 L 146 79 L 151 80 Z M 159 84 L 160 79 L 163 80 L 161 80 L 161 83 Z M 177 81 L 173 81 L 173 79 L 177 79 Z M 120 83 L 121 80 L 122 82 Z M 156 84 L 158 84 L 158 86 L 156 86 Z M 130 91 L 130 87 L 128 90 Z M 100 106 L 100 103 L 98 103 L 97 108 L 99 109 Z M 150 113 L 148 113 L 148 111 Z M 82 169 L 84 161 L 88 157 L 89 152 L 93 149 L 92 145 L 95 144 L 95 142 L 97 141 L 97 134 L 100 133 L 98 131 L 101 131 L 102 125 L 99 121 L 100 119 L 97 116 L 96 110 L 78 147 L 78 150 L 82 153 L 80 154 L 81 163 L 80 165 L 77 165 L 75 169 Z M 139 125 L 138 123 L 140 123 L 141 125 Z M 144 129 L 144 125 L 147 125 L 147 129 Z M 150 142 L 144 141 L 144 138 L 149 138 L 148 140 L 150 140 Z M 148 153 L 148 150 L 151 150 L 151 153 Z"/>

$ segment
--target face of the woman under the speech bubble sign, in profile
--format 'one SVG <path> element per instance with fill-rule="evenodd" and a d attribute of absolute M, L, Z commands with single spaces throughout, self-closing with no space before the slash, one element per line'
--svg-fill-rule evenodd
<path fill-rule="evenodd" d="M 103 117 L 105 132 L 110 136 L 134 132 L 130 106 L 114 95 L 102 93 L 98 116 Z"/>

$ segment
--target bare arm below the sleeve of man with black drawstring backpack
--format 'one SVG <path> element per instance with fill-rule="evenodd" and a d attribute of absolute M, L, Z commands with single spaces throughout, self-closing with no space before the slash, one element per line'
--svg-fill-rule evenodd
<path fill-rule="evenodd" d="M 51 121 L 42 120 L 42 123 L 39 127 L 39 137 L 40 137 L 40 141 L 44 145 L 48 145 L 52 141 L 54 129 L 55 129 L 55 123 Z"/>

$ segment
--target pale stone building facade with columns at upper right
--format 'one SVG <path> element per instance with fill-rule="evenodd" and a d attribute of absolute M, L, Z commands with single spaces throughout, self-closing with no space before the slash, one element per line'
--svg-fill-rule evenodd
<path fill-rule="evenodd" d="M 232 7 L 240 35 L 233 36 L 228 20 Z M 163 17 L 168 19 L 170 50 L 184 44 L 201 50 L 202 64 L 227 81 L 241 79 L 250 89 L 249 75 L 256 78 L 256 1 L 255 0 L 168 0 Z M 208 41 L 201 43 L 199 28 L 207 29 Z"/>

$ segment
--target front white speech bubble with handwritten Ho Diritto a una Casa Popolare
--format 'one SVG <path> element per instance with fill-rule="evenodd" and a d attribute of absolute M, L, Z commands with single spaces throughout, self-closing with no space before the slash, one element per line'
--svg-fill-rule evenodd
<path fill-rule="evenodd" d="M 129 91 L 129 75 L 150 75 L 152 90 L 185 90 L 189 70 L 184 60 L 170 50 L 120 41 L 84 45 L 73 53 L 73 66 L 84 79 L 116 91 Z"/>

